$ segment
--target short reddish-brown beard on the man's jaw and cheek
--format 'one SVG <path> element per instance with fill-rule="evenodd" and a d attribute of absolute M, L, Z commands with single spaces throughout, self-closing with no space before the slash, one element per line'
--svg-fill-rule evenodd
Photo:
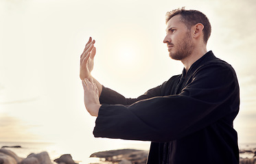
<path fill-rule="evenodd" d="M 183 39 L 179 40 L 174 47 L 176 48 L 176 52 L 169 53 L 172 59 L 182 60 L 191 55 L 194 50 L 194 44 L 192 43 L 190 33 L 187 32 L 187 35 Z"/>

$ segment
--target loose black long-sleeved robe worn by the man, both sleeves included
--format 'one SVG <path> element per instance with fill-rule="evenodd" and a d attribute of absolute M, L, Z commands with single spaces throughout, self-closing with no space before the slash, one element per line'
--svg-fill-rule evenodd
<path fill-rule="evenodd" d="M 152 141 L 148 164 L 239 163 L 235 70 L 211 51 L 138 98 L 103 87 L 95 137 Z"/>

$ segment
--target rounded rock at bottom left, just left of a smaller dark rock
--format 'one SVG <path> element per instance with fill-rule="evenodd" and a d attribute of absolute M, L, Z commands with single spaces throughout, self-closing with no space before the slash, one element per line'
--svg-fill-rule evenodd
<path fill-rule="evenodd" d="M 21 164 L 52 164 L 49 154 L 47 152 L 40 152 L 38 154 L 30 154 L 26 159 L 21 161 Z"/>

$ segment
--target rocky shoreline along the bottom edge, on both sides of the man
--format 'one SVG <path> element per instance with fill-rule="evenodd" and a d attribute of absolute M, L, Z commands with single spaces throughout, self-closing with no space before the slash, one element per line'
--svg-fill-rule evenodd
<path fill-rule="evenodd" d="M 51 161 L 47 152 L 40 152 L 38 154 L 32 153 L 26 158 L 21 158 L 6 148 L 8 147 L 3 147 L 0 149 L 0 164 L 78 164 L 78 162 L 73 161 L 70 154 L 63 154 L 60 156 L 60 158 Z M 252 150 L 240 150 L 240 155 L 241 154 L 250 154 L 253 157 L 240 157 L 240 164 L 256 163 L 256 148 Z M 145 164 L 148 157 L 148 151 L 136 149 L 108 150 L 103 152 L 95 152 L 91 154 L 90 157 L 100 159 L 100 163 L 90 164 Z"/>

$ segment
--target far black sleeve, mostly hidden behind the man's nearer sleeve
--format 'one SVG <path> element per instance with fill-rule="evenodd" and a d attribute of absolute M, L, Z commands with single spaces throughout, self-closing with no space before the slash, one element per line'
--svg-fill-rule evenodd
<path fill-rule="evenodd" d="M 131 105 L 134 102 L 137 102 L 139 100 L 144 100 L 144 99 L 152 98 L 155 96 L 161 96 L 161 90 L 163 90 L 165 83 L 148 90 L 146 93 L 139 96 L 138 98 L 125 98 L 123 95 L 115 92 L 114 90 L 111 90 L 108 87 L 104 87 L 102 85 L 102 94 L 100 95 L 100 104 Z"/>

